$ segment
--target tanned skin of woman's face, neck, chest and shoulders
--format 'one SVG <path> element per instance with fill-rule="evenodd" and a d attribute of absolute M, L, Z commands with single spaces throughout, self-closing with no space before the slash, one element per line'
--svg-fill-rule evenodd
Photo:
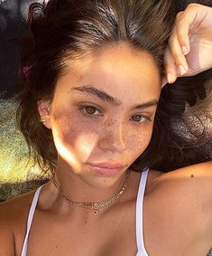
<path fill-rule="evenodd" d="M 105 47 L 98 56 L 90 54 L 67 62 L 51 104 L 39 102 L 40 114 L 45 126 L 52 129 L 58 149 L 57 180 L 64 194 L 78 202 L 98 202 L 115 194 L 126 169 L 152 136 L 156 106 L 131 109 L 134 104 L 158 100 L 160 83 L 152 57 L 125 44 Z M 90 84 L 120 104 L 69 92 Z M 78 109 L 82 101 L 101 109 L 101 114 L 85 117 Z M 132 119 L 135 115 L 150 115 L 151 121 L 137 123 L 138 117 Z M 115 175 L 97 175 L 88 168 L 92 161 L 115 161 L 125 167 Z M 140 177 L 132 173 L 123 196 L 97 216 L 62 200 L 51 182 L 44 185 L 32 222 L 28 255 L 135 255 Z M 211 162 L 167 174 L 150 170 L 143 202 L 144 243 L 149 255 L 207 254 L 212 241 L 211 182 Z M 33 194 L 1 204 L 0 255 L 20 255 Z"/>

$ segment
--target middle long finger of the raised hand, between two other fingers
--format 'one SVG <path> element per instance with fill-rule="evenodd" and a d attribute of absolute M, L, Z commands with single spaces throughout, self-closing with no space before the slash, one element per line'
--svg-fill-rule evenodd
<path fill-rule="evenodd" d="M 173 56 L 176 66 L 178 67 L 178 76 L 185 75 L 189 70 L 189 67 L 179 43 L 176 26 L 172 30 L 171 37 L 169 40 L 169 46 L 171 50 L 171 55 Z"/>

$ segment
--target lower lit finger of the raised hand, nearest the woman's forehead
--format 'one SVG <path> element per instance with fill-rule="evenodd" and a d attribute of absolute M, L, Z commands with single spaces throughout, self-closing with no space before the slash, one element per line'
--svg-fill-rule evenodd
<path fill-rule="evenodd" d="M 170 47 L 167 46 L 164 55 L 164 69 L 166 73 L 166 78 L 169 83 L 173 83 L 177 80 L 177 70 L 174 62 L 174 58 L 171 54 Z"/>

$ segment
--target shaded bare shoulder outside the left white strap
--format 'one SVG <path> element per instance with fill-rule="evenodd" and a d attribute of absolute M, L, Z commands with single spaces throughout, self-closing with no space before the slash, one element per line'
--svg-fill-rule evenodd
<path fill-rule="evenodd" d="M 0 204 L 0 256 L 15 255 L 15 243 L 25 232 L 34 191 Z"/>

